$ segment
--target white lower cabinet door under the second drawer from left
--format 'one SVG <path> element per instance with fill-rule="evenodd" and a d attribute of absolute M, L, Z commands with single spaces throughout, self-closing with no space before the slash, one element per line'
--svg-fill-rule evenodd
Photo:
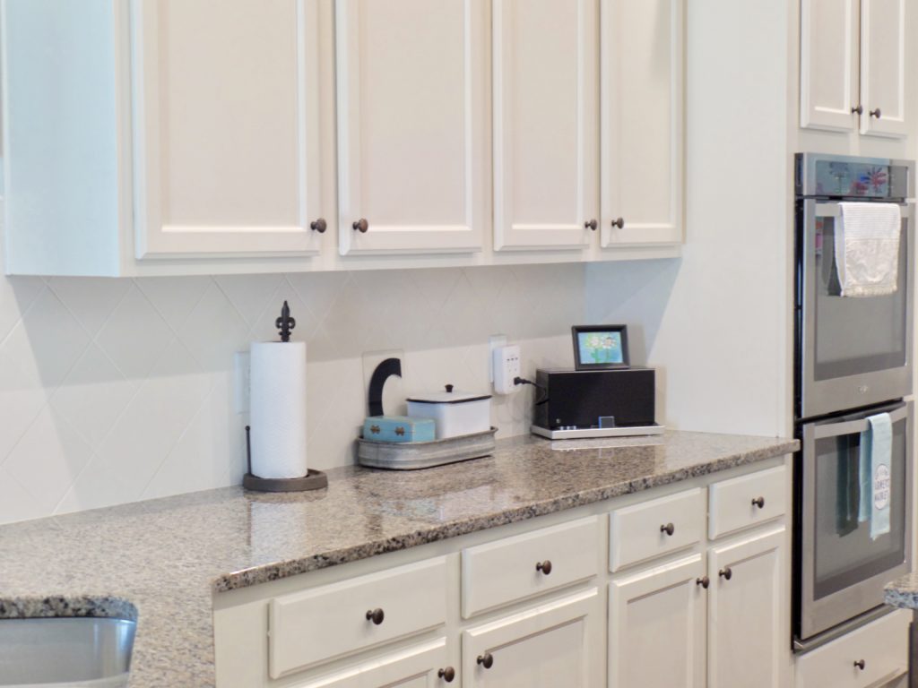
<path fill-rule="evenodd" d="M 465 688 L 599 688 L 599 591 L 545 603 L 463 632 Z"/>

